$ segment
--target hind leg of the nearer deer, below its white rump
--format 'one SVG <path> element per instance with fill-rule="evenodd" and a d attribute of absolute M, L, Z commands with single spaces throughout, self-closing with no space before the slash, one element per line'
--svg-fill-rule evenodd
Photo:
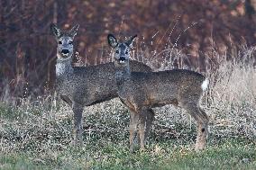
<path fill-rule="evenodd" d="M 198 123 L 195 150 L 204 149 L 206 147 L 206 138 L 208 134 L 208 116 L 196 103 L 184 104 L 184 108 Z"/>

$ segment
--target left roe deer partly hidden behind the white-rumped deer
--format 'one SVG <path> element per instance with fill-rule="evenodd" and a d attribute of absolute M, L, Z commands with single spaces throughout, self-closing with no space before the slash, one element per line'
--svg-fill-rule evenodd
<path fill-rule="evenodd" d="M 91 67 L 72 67 L 73 40 L 78 31 L 78 25 L 70 31 L 60 31 L 55 24 L 50 25 L 50 30 L 58 42 L 56 85 L 60 98 L 74 112 L 74 144 L 82 144 L 82 112 L 84 106 L 102 103 L 117 97 L 117 88 L 114 78 L 114 63 L 101 64 Z M 134 71 L 150 72 L 148 67 L 140 62 L 131 61 Z M 154 113 L 148 110 L 148 126 L 151 126 Z M 150 127 L 149 127 L 150 128 Z"/>

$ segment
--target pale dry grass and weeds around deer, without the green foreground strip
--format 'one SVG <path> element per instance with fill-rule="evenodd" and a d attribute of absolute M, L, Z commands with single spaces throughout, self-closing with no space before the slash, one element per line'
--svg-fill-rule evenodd
<path fill-rule="evenodd" d="M 210 117 L 209 141 L 214 145 L 220 138 L 256 137 L 256 69 L 252 64 L 255 62 L 253 52 L 253 48 L 244 49 L 237 58 L 230 60 L 219 56 L 223 59 L 218 60 L 217 67 L 206 70 L 210 86 L 203 97 L 202 106 Z M 155 70 L 171 67 L 163 63 Z M 0 152 L 28 152 L 35 162 L 43 165 L 58 162 L 55 159 L 58 159 L 59 152 L 67 160 L 73 161 L 74 156 L 69 157 L 69 143 L 72 140 L 72 112 L 69 106 L 61 102 L 57 95 L 43 96 L 37 100 L 22 99 L 20 105 L 15 106 L 14 99 L 7 94 L 2 96 L 0 103 Z M 155 112 L 156 120 L 150 139 L 153 149 L 158 148 L 155 143 L 169 139 L 175 140 L 178 146 L 184 143 L 188 148 L 193 146 L 196 122 L 185 111 L 169 105 L 156 108 Z M 87 154 L 84 158 L 88 162 L 96 161 L 106 144 L 128 148 L 128 123 L 129 113 L 119 99 L 87 107 L 83 133 L 87 147 L 83 149 L 89 151 L 85 151 Z"/>

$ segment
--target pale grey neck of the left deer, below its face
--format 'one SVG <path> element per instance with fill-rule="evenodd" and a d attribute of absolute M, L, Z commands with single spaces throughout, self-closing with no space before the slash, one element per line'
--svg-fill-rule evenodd
<path fill-rule="evenodd" d="M 59 54 L 57 54 L 58 56 Z M 73 72 L 72 57 L 66 59 L 57 58 L 56 76 L 63 76 Z"/>

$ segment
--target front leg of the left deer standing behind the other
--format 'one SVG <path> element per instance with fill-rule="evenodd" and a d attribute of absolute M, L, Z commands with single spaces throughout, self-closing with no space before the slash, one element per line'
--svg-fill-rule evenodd
<path fill-rule="evenodd" d="M 73 103 L 72 106 L 74 112 L 74 129 L 73 129 L 73 136 L 74 136 L 74 145 L 77 146 L 78 142 L 80 147 L 83 145 L 83 138 L 82 138 L 82 114 L 84 107 L 81 104 Z"/>

